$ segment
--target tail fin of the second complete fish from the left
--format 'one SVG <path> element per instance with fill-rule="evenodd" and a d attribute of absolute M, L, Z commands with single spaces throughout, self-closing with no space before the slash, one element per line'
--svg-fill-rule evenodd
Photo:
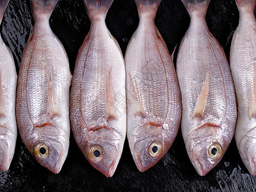
<path fill-rule="evenodd" d="M 92 20 L 95 15 L 104 15 L 104 19 L 114 0 L 84 0 L 87 13 Z"/>

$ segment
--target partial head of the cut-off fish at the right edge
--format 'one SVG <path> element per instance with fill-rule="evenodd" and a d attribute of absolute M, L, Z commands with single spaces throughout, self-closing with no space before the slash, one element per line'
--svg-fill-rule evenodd
<path fill-rule="evenodd" d="M 256 127 L 237 143 L 243 162 L 252 175 L 256 175 Z"/>

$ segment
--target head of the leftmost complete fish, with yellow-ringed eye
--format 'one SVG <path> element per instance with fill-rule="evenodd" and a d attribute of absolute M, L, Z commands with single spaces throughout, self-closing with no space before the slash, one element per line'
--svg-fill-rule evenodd
<path fill-rule="evenodd" d="M 68 153 L 68 134 L 47 122 L 34 127 L 28 140 L 26 147 L 36 161 L 51 172 L 59 173 Z"/>

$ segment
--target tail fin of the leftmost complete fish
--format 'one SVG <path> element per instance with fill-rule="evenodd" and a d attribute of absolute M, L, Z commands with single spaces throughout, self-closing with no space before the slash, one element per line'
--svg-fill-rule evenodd
<path fill-rule="evenodd" d="M 33 6 L 34 17 L 36 17 L 37 12 L 49 14 L 51 16 L 58 0 L 31 0 Z"/>

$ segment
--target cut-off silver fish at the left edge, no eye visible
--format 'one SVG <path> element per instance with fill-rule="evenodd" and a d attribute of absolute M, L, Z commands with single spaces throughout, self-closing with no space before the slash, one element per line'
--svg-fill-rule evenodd
<path fill-rule="evenodd" d="M 0 1 L 0 24 L 9 0 Z M 0 169 L 6 172 L 12 162 L 17 124 L 15 98 L 17 73 L 12 52 L 6 47 L 0 35 Z"/>

